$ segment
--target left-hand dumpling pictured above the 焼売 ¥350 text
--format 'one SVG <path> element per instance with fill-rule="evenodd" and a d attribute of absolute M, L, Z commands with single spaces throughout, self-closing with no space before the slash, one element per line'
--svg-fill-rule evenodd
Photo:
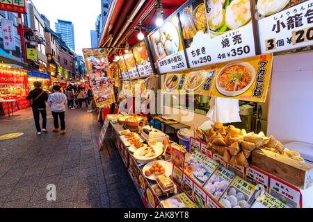
<path fill-rule="evenodd" d="M 209 28 L 216 31 L 225 24 L 225 10 L 222 4 L 214 5 L 209 12 Z"/>

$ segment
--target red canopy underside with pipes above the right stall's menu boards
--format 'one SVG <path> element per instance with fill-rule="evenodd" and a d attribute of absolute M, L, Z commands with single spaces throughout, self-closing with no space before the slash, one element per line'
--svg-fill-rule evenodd
<path fill-rule="evenodd" d="M 99 47 L 109 48 L 109 56 L 114 56 L 113 47 L 125 46 L 128 41 L 130 46 L 138 43 L 137 38 L 139 22 L 142 22 L 145 36 L 154 28 L 156 19 L 157 0 L 115 0 L 111 1 L 110 10 L 99 39 Z M 186 0 L 162 0 L 166 19 L 182 6 Z"/>

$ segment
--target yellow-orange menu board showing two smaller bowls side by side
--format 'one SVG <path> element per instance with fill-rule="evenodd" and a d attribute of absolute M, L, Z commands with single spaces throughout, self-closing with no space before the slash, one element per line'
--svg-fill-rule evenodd
<path fill-rule="evenodd" d="M 211 65 L 201 69 L 169 73 L 164 81 L 163 92 L 170 94 L 186 92 L 209 96 L 215 72 L 216 65 Z"/>

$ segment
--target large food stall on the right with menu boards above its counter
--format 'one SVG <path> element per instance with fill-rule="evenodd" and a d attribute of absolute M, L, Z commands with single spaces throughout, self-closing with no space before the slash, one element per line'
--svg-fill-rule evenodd
<path fill-rule="evenodd" d="M 313 207 L 312 7 L 186 1 L 120 57 L 122 113 L 106 117 L 98 147 L 113 140 L 146 207 Z M 154 113 L 191 127 L 188 148 L 142 104 L 121 110 L 143 85 L 138 54 L 160 75 Z"/>

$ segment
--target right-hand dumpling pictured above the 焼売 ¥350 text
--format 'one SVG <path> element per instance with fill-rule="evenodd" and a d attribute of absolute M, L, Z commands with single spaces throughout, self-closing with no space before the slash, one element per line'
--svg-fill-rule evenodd
<path fill-rule="evenodd" d="M 250 1 L 234 0 L 226 10 L 226 26 L 236 29 L 251 20 Z"/>

